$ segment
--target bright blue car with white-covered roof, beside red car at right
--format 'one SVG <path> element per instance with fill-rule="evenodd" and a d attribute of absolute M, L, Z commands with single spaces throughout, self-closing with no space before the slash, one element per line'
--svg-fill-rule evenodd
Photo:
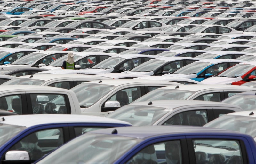
<path fill-rule="evenodd" d="M 233 59 L 205 59 L 188 64 L 172 74 L 163 76 L 182 77 L 201 82 L 205 78 L 214 76 L 230 66 L 242 63 L 241 60 Z"/>

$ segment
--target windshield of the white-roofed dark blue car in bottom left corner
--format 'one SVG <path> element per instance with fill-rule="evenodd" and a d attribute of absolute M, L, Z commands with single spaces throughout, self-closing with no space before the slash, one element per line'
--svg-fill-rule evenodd
<path fill-rule="evenodd" d="M 0 124 L 0 146 L 12 139 L 15 135 L 26 129 L 24 126 Z"/>

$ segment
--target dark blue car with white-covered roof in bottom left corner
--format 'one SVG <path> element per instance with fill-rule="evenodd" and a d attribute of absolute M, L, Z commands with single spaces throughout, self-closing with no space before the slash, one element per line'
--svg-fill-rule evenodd
<path fill-rule="evenodd" d="M 23 150 L 28 152 L 31 163 L 89 131 L 131 126 L 128 122 L 110 118 L 68 114 L 4 116 L 0 120 L 1 159 L 8 151 Z"/>

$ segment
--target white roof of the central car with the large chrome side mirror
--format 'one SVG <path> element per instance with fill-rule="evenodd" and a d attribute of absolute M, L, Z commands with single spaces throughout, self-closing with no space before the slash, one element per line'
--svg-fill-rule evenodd
<path fill-rule="evenodd" d="M 91 81 L 91 82 L 84 82 L 85 83 L 94 83 L 94 84 L 105 84 L 105 85 L 114 85 L 120 86 L 125 84 L 171 84 L 171 85 L 180 85 L 177 82 L 166 82 L 166 81 L 159 81 L 159 80 L 144 80 L 144 79 L 115 79 L 115 80 L 100 80 L 100 81 Z M 182 85 L 182 84 L 181 84 Z"/>

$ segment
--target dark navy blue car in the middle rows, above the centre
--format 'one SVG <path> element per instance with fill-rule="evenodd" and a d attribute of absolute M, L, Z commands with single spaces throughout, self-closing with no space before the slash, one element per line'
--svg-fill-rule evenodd
<path fill-rule="evenodd" d="M 164 51 L 169 51 L 170 49 L 166 48 L 153 48 L 153 47 L 146 47 L 146 48 L 135 48 L 123 51 L 119 54 L 142 54 L 142 55 L 157 55 Z"/>

